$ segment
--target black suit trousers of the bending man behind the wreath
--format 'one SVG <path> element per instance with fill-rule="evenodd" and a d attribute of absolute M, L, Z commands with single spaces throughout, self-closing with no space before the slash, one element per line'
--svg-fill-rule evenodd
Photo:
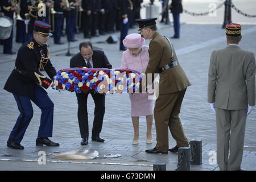
<path fill-rule="evenodd" d="M 90 93 L 94 100 L 94 120 L 92 137 L 98 137 L 101 133 L 103 118 L 105 114 L 105 94 Z M 87 98 L 89 93 L 76 93 L 78 103 L 78 120 L 81 138 L 89 136 Z"/>

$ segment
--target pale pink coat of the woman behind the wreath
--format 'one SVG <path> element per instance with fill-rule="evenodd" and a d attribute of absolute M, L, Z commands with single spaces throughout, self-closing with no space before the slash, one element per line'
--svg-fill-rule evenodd
<path fill-rule="evenodd" d="M 127 49 L 123 52 L 121 68 L 134 69 L 141 73 L 145 73 L 149 60 L 148 46 L 142 46 L 139 55 L 132 55 Z M 147 93 L 129 94 L 131 100 L 131 116 L 145 116 L 154 113 L 154 100 L 148 100 Z"/>

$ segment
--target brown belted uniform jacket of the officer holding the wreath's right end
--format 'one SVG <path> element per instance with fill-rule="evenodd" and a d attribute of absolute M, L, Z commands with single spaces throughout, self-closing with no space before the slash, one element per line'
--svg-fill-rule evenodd
<path fill-rule="evenodd" d="M 168 40 L 155 32 L 149 44 L 149 61 L 146 69 L 147 73 L 158 73 L 156 69 L 171 63 L 171 47 Z M 174 50 L 174 61 L 177 61 L 177 56 Z M 188 81 L 185 72 L 178 64 L 174 68 L 166 69 L 160 73 L 159 94 L 168 94 L 184 90 L 191 83 Z"/>

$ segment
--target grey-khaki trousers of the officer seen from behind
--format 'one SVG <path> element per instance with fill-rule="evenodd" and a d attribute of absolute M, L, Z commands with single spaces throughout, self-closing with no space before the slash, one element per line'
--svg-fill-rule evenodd
<path fill-rule="evenodd" d="M 247 109 L 216 108 L 217 163 L 221 171 L 235 171 L 241 168 L 246 113 Z"/>

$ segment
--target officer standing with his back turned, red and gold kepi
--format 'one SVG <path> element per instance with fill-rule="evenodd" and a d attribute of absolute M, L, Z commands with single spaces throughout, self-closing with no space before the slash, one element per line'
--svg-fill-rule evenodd
<path fill-rule="evenodd" d="M 228 47 L 210 57 L 208 102 L 216 111 L 220 170 L 241 169 L 246 116 L 255 105 L 255 57 L 238 46 L 241 38 L 241 25 L 227 24 Z"/>

